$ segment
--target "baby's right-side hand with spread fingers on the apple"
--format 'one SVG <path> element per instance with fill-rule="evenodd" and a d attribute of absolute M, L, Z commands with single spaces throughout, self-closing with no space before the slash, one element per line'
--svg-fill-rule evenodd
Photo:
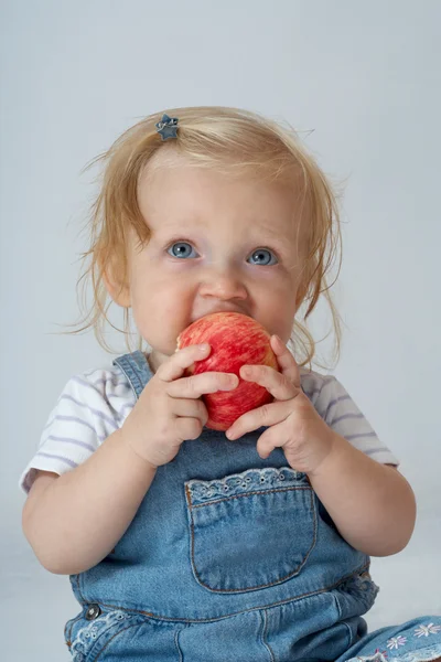
<path fill-rule="evenodd" d="M 238 439 L 270 426 L 257 441 L 259 456 L 267 458 L 281 447 L 293 469 L 312 473 L 331 452 L 334 433 L 301 389 L 299 366 L 287 346 L 277 335 L 271 337 L 271 346 L 281 372 L 266 365 L 244 365 L 240 377 L 267 388 L 275 401 L 240 416 L 226 436 Z"/>

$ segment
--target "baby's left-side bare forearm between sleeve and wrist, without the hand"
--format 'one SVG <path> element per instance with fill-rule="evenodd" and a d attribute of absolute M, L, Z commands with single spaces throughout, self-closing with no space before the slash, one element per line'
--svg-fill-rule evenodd
<path fill-rule="evenodd" d="M 41 472 L 23 509 L 23 532 L 51 573 L 82 573 L 115 547 L 132 521 L 155 468 L 121 438 L 121 430 L 73 471 Z"/>

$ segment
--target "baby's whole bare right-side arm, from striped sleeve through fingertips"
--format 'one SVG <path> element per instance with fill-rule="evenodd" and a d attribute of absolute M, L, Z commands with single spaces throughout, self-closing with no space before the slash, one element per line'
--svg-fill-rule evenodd
<path fill-rule="evenodd" d="M 335 412 L 335 405 L 347 402 L 348 396 L 332 391 L 330 395 L 327 391 L 325 406 L 321 404 L 322 416 L 303 393 L 291 352 L 276 335 L 271 337 L 271 345 L 280 372 L 250 365 L 240 370 L 240 376 L 267 388 L 275 402 L 244 414 L 226 430 L 227 437 L 238 439 L 247 431 L 269 426 L 257 442 L 260 457 L 283 448 L 289 465 L 308 473 L 319 499 L 351 545 L 372 556 L 400 552 L 416 521 L 409 483 L 396 469 L 373 460 L 326 424 L 329 410 L 334 410 L 332 418 L 351 417 Z M 335 383 L 326 382 L 327 386 Z M 355 414 L 356 420 L 362 418 Z"/>

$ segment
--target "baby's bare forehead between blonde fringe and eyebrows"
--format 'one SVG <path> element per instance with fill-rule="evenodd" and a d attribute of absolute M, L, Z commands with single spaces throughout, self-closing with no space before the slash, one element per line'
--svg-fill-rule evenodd
<path fill-rule="evenodd" d="M 302 241 L 308 225 L 303 222 L 304 192 L 295 186 L 294 178 L 262 181 L 251 170 L 240 175 L 218 172 L 168 148 L 158 150 L 139 179 L 138 203 L 151 231 L 178 232 L 190 224 L 204 227 L 213 211 L 213 223 L 237 217 L 237 232 L 245 224 L 268 239 L 275 231 L 283 231 L 287 242 Z"/>

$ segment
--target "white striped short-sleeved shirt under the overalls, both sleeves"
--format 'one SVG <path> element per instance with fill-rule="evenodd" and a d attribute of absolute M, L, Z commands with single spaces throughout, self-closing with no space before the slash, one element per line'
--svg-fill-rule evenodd
<path fill-rule="evenodd" d="M 320 416 L 338 435 L 377 462 L 399 465 L 334 376 L 302 370 L 301 385 Z M 122 426 L 135 403 L 135 393 L 117 366 L 71 377 L 20 478 L 20 488 L 29 492 L 37 469 L 62 474 L 86 461 Z"/>

